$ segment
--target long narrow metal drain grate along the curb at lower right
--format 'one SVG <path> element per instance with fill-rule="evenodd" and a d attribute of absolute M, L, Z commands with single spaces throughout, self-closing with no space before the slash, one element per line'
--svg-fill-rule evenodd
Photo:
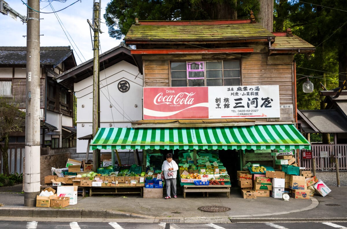
<path fill-rule="evenodd" d="M 307 218 L 307 219 L 283 219 L 283 218 L 230 218 L 232 223 L 258 223 L 258 222 L 347 222 L 347 218 Z"/>

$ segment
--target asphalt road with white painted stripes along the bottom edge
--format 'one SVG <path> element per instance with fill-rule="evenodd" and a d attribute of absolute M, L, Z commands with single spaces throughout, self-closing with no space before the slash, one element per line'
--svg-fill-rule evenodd
<path fill-rule="evenodd" d="M 347 222 L 300 222 L 300 223 L 229 223 L 229 224 L 190 224 L 190 223 L 133 223 L 133 222 L 37 222 L 37 221 L 0 221 L 0 228 L 7 229 L 180 229 L 180 228 L 199 228 L 199 229 L 297 229 L 297 228 L 315 228 L 315 229 L 334 229 L 347 228 Z"/>

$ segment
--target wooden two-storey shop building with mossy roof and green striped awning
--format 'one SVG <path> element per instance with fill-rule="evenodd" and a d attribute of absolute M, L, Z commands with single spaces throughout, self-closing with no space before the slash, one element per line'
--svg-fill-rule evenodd
<path fill-rule="evenodd" d="M 215 149 L 229 174 L 273 165 L 270 152 L 310 149 L 295 127 L 294 54 L 315 48 L 290 29 L 271 33 L 254 17 L 137 21 L 124 40 L 143 69 L 144 117 L 99 129 L 91 149 Z"/>

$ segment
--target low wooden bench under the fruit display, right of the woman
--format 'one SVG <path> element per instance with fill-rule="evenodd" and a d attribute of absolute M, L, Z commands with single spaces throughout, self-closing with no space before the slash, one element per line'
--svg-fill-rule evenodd
<path fill-rule="evenodd" d="M 183 198 L 186 198 L 187 192 L 203 192 L 205 196 L 205 192 L 207 193 L 207 197 L 209 196 L 209 192 L 226 192 L 227 197 L 230 198 L 230 187 L 231 185 L 194 185 L 181 183 L 183 184 Z"/>

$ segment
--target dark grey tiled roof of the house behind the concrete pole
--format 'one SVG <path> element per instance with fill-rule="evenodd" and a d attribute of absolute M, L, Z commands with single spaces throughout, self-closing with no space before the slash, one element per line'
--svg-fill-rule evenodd
<path fill-rule="evenodd" d="M 70 46 L 40 47 L 40 64 L 58 65 L 72 54 Z M 26 47 L 0 47 L 0 65 L 26 65 Z"/>

